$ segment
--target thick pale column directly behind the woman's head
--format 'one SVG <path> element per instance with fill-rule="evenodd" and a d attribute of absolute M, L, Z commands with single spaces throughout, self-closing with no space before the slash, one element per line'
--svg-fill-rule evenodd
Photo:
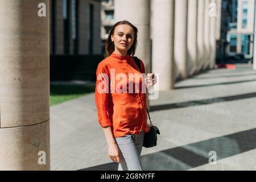
<path fill-rule="evenodd" d="M 127 20 L 138 28 L 138 46 L 135 55 L 145 65 L 146 73 L 150 68 L 150 1 L 148 0 L 115 0 L 114 1 L 115 22 Z"/>

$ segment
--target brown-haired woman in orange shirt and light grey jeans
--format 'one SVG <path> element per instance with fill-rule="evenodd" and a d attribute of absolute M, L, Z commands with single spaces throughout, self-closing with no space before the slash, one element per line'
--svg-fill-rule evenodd
<path fill-rule="evenodd" d="M 143 88 L 145 77 L 134 79 L 129 75 L 145 73 L 142 60 L 139 60 L 140 71 L 132 57 L 137 47 L 137 32 L 126 20 L 115 23 L 105 44 L 106 59 L 98 64 L 96 71 L 98 122 L 108 142 L 110 159 L 119 163 L 118 170 L 142 170 L 140 155 L 144 132 L 149 131 L 146 92 L 139 89 L 138 93 L 133 87 Z M 155 84 L 152 77 L 154 73 L 146 76 L 146 86 Z M 127 92 L 121 92 L 123 90 Z"/>

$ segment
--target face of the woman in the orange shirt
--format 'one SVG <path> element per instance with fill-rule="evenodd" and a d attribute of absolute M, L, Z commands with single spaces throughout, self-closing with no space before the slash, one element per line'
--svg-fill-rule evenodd
<path fill-rule="evenodd" d="M 128 24 L 119 24 L 115 27 L 111 40 L 119 51 L 128 51 L 134 41 L 133 28 Z"/>

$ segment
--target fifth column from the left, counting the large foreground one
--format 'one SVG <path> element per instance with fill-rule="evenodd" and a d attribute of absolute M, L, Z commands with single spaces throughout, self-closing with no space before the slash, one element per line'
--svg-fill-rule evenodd
<path fill-rule="evenodd" d="M 188 71 L 197 70 L 197 0 L 188 0 Z"/>

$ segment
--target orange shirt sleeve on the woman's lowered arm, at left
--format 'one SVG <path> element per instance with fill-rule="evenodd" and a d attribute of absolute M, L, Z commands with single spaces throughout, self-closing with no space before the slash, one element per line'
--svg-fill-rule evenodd
<path fill-rule="evenodd" d="M 96 71 L 95 102 L 98 110 L 98 122 L 101 127 L 112 126 L 108 115 L 108 95 L 109 95 L 109 72 L 104 64 L 98 64 Z"/>

